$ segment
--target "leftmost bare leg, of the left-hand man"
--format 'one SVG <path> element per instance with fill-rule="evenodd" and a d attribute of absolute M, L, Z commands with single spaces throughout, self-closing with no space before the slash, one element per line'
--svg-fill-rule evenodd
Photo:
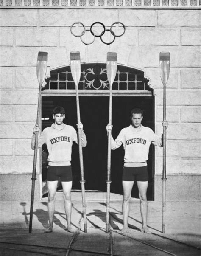
<path fill-rule="evenodd" d="M 47 181 L 48 186 L 48 215 L 49 215 L 49 228 L 44 233 L 51 233 L 53 230 L 53 219 L 54 219 L 54 205 L 56 198 L 56 187 L 58 181 Z"/>

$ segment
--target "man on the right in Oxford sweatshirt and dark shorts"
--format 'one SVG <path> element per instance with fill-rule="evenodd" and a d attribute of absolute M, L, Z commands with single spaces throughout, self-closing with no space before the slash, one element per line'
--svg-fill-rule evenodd
<path fill-rule="evenodd" d="M 147 187 L 148 171 L 147 160 L 150 144 L 162 146 L 162 138 L 159 138 L 150 128 L 144 127 L 141 122 L 143 112 L 140 109 L 131 110 L 131 125 L 122 129 L 116 140 L 111 137 L 111 149 L 117 149 L 122 144 L 125 150 L 123 167 L 123 229 L 121 233 L 129 231 L 129 201 L 134 181 L 137 181 L 140 198 L 140 211 L 142 216 L 142 232 L 151 233 L 147 227 Z M 163 121 L 163 126 L 168 127 L 168 122 Z M 108 124 L 107 132 L 112 130 L 112 125 Z"/>

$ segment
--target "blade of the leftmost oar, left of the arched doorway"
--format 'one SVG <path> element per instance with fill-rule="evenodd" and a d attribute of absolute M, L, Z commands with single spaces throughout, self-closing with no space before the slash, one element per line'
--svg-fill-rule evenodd
<path fill-rule="evenodd" d="M 41 86 L 45 80 L 45 74 L 47 70 L 47 56 L 48 53 L 44 51 L 39 51 L 36 65 L 36 73 L 39 85 Z"/>

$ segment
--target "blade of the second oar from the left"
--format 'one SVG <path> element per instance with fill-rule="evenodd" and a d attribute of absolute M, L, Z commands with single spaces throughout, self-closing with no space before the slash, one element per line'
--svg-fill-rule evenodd
<path fill-rule="evenodd" d="M 78 86 L 81 76 L 80 52 L 75 51 L 70 53 L 70 69 L 75 86 Z"/>

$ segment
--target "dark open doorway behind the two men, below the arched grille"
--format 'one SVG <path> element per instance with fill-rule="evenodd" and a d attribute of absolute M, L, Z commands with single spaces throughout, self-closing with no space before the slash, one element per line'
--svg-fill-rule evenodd
<path fill-rule="evenodd" d="M 109 117 L 109 97 L 80 96 L 81 121 L 87 136 L 87 147 L 83 149 L 84 176 L 86 190 L 106 191 L 107 173 L 107 135 L 106 124 Z M 44 96 L 42 97 L 42 129 L 53 123 L 52 110 L 62 106 L 66 110 L 65 124 L 76 129 L 77 113 L 75 96 Z M 154 130 L 154 98 L 150 96 L 117 96 L 112 98 L 112 136 L 115 139 L 120 130 L 130 125 L 130 111 L 134 107 L 144 110 L 142 124 Z M 111 160 L 111 192 L 123 194 L 123 146 L 112 151 Z M 78 146 L 73 144 L 72 149 L 73 189 L 81 189 Z M 45 169 L 44 169 L 45 170 Z M 149 160 L 148 200 L 154 200 L 154 147 L 150 147 Z M 43 175 L 45 180 L 45 171 Z M 134 184 L 132 197 L 138 198 L 137 185 Z"/>

